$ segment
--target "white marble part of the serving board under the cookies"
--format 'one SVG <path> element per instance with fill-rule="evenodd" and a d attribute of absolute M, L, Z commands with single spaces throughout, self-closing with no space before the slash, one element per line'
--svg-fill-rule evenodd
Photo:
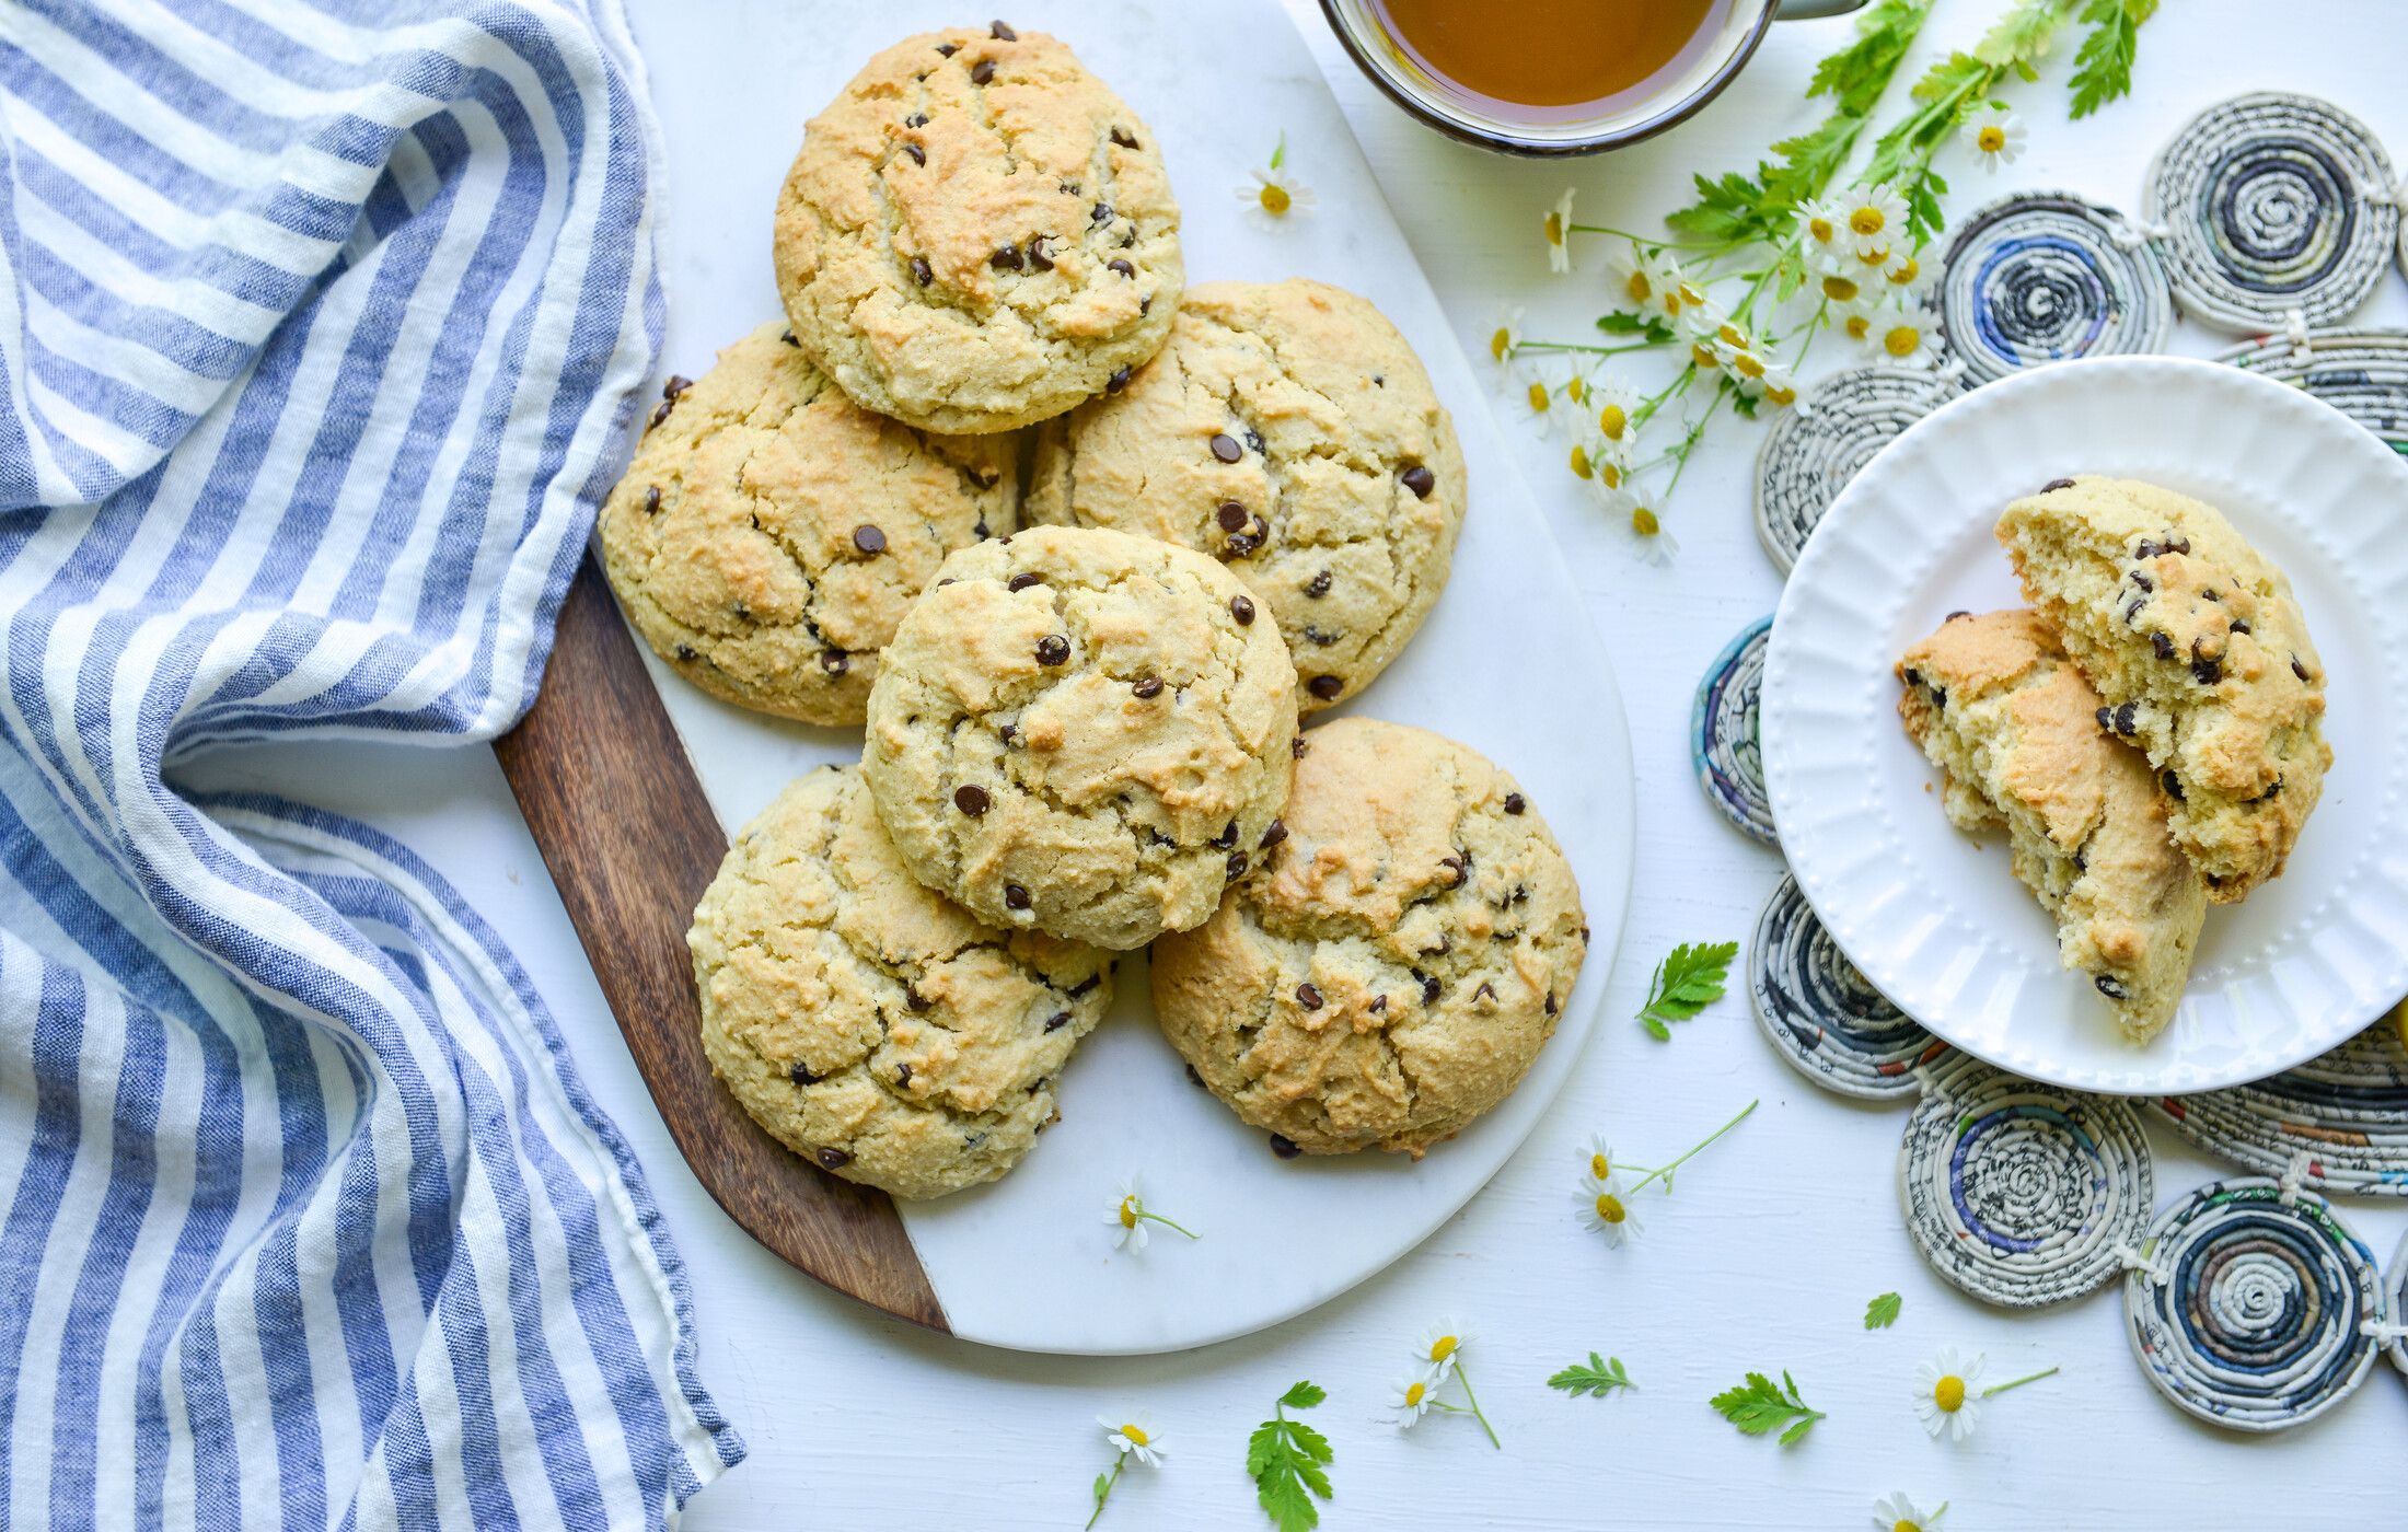
<path fill-rule="evenodd" d="M 1062 36 L 1144 116 L 1180 198 L 1190 282 L 1336 282 L 1421 352 L 1462 434 L 1471 506 L 1430 621 L 1339 711 L 1433 727 L 1512 771 L 1570 853 L 1592 927 L 1580 988 L 1529 1079 L 1421 1163 L 1274 1159 L 1262 1132 L 1187 1084 L 1153 1026 L 1144 954 L 1120 964 L 1112 1014 L 1064 1072 L 1062 1123 L 1009 1178 L 903 1204 L 903 1224 L 956 1334 L 1031 1351 L 1173 1351 L 1274 1325 L 1387 1267 L 1536 1127 L 1580 1062 L 1613 966 L 1630 894 L 1630 740 L 1613 672 L 1481 378 L 1276 0 L 1223 0 L 1209 24 L 1182 0 L 1014 0 L 975 14 Z M 754 53 L 655 72 L 665 118 L 713 128 L 667 147 L 669 371 L 701 373 L 718 347 L 778 313 L 768 214 L 804 118 L 877 48 L 961 22 L 961 7 L 939 0 L 833 7 L 809 39 L 766 29 Z M 686 99 L 667 111 L 677 92 Z M 1252 185 L 1247 166 L 1269 159 L 1281 132 L 1317 202 L 1259 229 L 1233 193 Z M 660 665 L 653 677 L 730 829 L 790 776 L 860 756 L 860 730 L 744 713 Z M 1105 1212 L 1129 1173 L 1204 1238 L 1156 1231 L 1141 1255 L 1112 1250 Z"/>

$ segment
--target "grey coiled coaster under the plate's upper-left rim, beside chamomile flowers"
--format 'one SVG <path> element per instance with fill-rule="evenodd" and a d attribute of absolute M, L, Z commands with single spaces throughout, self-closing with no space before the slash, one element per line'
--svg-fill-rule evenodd
<path fill-rule="evenodd" d="M 1837 371 L 1784 409 L 1755 453 L 1755 535 L 1782 573 L 1832 496 L 1893 436 L 1948 402 L 1955 388 L 1910 366 Z"/>

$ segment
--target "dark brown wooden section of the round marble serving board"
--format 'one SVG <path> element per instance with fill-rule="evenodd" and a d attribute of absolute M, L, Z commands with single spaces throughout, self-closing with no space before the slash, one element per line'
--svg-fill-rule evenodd
<path fill-rule="evenodd" d="M 893 1202 L 790 1154 L 710 1074 L 686 923 L 727 833 L 590 556 L 561 605 L 544 689 L 494 754 L 703 1190 L 819 1281 L 946 1330 Z"/>

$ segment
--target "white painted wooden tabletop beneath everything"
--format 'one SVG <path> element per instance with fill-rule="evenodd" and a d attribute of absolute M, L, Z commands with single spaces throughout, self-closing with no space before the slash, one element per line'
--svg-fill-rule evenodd
<path fill-rule="evenodd" d="M 638 41 L 667 26 L 730 39 L 809 31 L 814 0 L 633 0 Z M 1553 279 L 1539 212 L 1580 185 L 1582 222 L 1654 226 L 1690 169 L 1753 164 L 1808 120 L 1799 87 L 1847 22 L 1777 26 L 1758 60 L 1678 132 L 1570 166 L 1517 164 L 1423 132 L 1339 55 L 1308 0 L 1288 0 L 1380 173 L 1387 198 L 1466 344 L 1500 304 L 1531 332 L 1577 335 L 1597 313 L 1594 275 Z M 2003 0 L 1948 0 L 1905 75 L 1941 46 L 1970 46 Z M 710 19 L 706 14 L 710 12 Z M 718 14 L 725 12 L 725 14 Z M 1209 26 L 1209 0 L 1197 0 Z M 1175 39 L 1165 39 L 1175 46 Z M 2143 34 L 2138 94 L 2090 123 L 2064 120 L 2064 60 L 2013 101 L 2032 145 L 1996 188 L 1950 171 L 1950 212 L 2006 185 L 2068 185 L 2138 205 L 2150 152 L 2199 106 L 2254 87 L 2324 94 L 2408 154 L 2408 29 L 2396 0 L 2285 5 L 2177 0 Z M 1893 92 L 1893 108 L 1905 79 Z M 696 130 L 669 116 L 672 140 Z M 1228 183 L 1269 152 L 1276 123 L 1233 123 Z M 1315 145 L 1291 145 L 1315 176 Z M 1182 185 L 1221 198 L 1226 185 Z M 674 205 L 672 205 L 674 217 Z M 1592 263 L 1594 265 L 1594 263 Z M 669 294 L 677 301 L 677 294 Z M 2408 318 L 2394 275 L 2362 318 Z M 2182 349 L 2208 337 L 2184 328 Z M 706 357 L 672 357 L 674 364 Z M 686 371 L 694 371 L 691 366 Z M 1197 1354 L 1055 1361 L 937 1339 L 836 1298 L 744 1238 L 669 1147 L 602 1007 L 542 860 L 489 752 L 315 747 L 224 756 L 212 783 L 260 783 L 361 814 L 443 870 L 535 973 L 597 1098 L 626 1127 L 686 1255 L 701 1315 L 701 1375 L 751 1457 L 694 1503 L 689 1527 L 1076 1527 L 1108 1465 L 1098 1412 L 1144 1412 L 1170 1460 L 1132 1469 L 1108 1527 L 1259 1527 L 1245 1433 L 1296 1378 L 1329 1387 L 1312 1421 L 1336 1445 L 1324 1525 L 1683 1525 L 1861 1527 L 1893 1489 L 1950 1501 L 1950 1527 L 2401 1527 L 2408 1385 L 2377 1375 L 2324 1421 L 2268 1440 L 2194 1424 L 2141 1378 L 2114 1291 L 2044 1315 L 1960 1298 L 1907 1245 L 1895 1192 L 1902 1115 L 1861 1110 L 1804 1084 L 1731 997 L 1669 1045 L 1628 1021 L 1657 956 L 1683 939 L 1746 939 L 1780 860 L 1712 817 L 1688 773 L 1690 689 L 1714 650 L 1763 617 L 1777 576 L 1755 544 L 1748 475 L 1755 429 L 1714 436 L 1674 506 L 1681 559 L 1640 564 L 1560 470 L 1560 443 L 1522 436 L 1534 494 L 1616 658 L 1640 792 L 1633 915 L 1606 1019 L 1575 1084 L 1507 1171 L 1387 1274 L 1271 1332 Z M 1534 556 L 1539 556 L 1534 552 Z M 1763 1108 L 1681 1173 L 1678 1197 L 1645 1204 L 1635 1248 L 1609 1250 L 1570 1212 L 1580 1144 L 1606 1132 L 1657 1163 L 1751 1098 Z M 2150 1130 L 2160 1204 L 2213 1168 Z M 2389 1260 L 2408 1212 L 2348 1202 Z M 1161 1248 L 1163 1260 L 1178 1250 Z M 1866 1298 L 1895 1289 L 1905 1315 L 1866 1334 Z M 1385 1424 L 1385 1397 L 1423 1325 L 1469 1325 L 1471 1378 L 1505 1438 L 1430 1419 Z M 1912 1373 L 1938 1347 L 1989 1354 L 1991 1375 L 2049 1363 L 2061 1375 L 1994 1400 L 1963 1445 L 1929 1440 Z M 1541 1383 L 1589 1349 L 1621 1356 L 1637 1392 L 1565 1400 Z M 1799 1448 L 1748 1440 L 1705 1400 L 1748 1368 L 1796 1373 L 1830 1412 Z"/>

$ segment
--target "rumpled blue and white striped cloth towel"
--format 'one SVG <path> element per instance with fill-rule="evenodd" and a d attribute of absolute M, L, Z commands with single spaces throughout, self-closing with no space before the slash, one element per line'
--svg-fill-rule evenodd
<path fill-rule="evenodd" d="M 0 1525 L 648 1527 L 742 1457 L 527 976 L 195 800 L 527 706 L 660 347 L 616 0 L 0 0 Z"/>

